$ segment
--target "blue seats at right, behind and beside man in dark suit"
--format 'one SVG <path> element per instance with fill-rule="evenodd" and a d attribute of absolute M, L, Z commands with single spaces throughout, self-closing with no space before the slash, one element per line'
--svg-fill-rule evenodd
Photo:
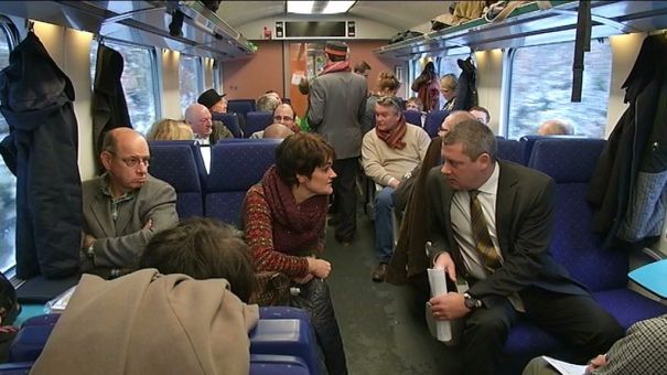
<path fill-rule="evenodd" d="M 636 321 L 667 313 L 666 306 L 627 288 L 628 249 L 603 248 L 592 231 L 593 211 L 585 195 L 605 140 L 530 137 L 513 142 L 518 150 L 516 156 L 529 152 L 526 164 L 556 182 L 556 228 L 550 245 L 553 258 L 587 286 L 625 329 Z M 509 332 L 498 372 L 518 374 L 534 356 L 563 353 L 568 349 L 551 334 L 520 321 Z"/>

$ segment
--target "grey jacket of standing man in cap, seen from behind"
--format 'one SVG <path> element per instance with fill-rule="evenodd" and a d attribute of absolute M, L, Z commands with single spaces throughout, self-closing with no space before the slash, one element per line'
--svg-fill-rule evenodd
<path fill-rule="evenodd" d="M 337 159 L 362 153 L 361 121 L 366 110 L 366 79 L 352 72 L 316 77 L 310 86 L 308 121 L 336 151 Z"/>

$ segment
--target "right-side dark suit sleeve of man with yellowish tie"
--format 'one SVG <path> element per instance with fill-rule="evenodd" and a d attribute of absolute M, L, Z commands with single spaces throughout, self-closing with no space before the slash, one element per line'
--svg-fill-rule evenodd
<path fill-rule="evenodd" d="M 536 191 L 518 191 L 525 200 L 520 211 L 525 213 L 518 222 L 518 234 L 510 244 L 509 254 L 504 259 L 503 267 L 494 271 L 488 278 L 475 283 L 470 293 L 480 298 L 485 304 L 493 303 L 487 296 L 509 296 L 528 287 L 537 277 L 542 267 L 542 257 L 549 248 L 553 231 L 553 197 L 556 184 L 553 180 L 542 186 L 534 188 Z"/>

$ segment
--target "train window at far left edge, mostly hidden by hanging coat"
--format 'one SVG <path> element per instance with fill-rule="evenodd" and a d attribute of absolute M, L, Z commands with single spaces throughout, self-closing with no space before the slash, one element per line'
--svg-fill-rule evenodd
<path fill-rule="evenodd" d="M 17 39 L 14 28 L 8 20 L 0 19 L 0 68 L 9 65 L 9 52 Z M 9 125 L 0 116 L 0 140 L 9 135 Z M 0 271 L 6 272 L 15 265 L 17 233 L 17 179 L 0 158 Z"/>

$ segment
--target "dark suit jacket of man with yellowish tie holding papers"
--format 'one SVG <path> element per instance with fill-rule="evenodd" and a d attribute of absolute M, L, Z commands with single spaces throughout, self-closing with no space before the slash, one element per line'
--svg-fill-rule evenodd
<path fill-rule="evenodd" d="M 501 168 L 496 196 L 496 232 L 503 266 L 470 288 L 470 293 L 491 307 L 501 299 L 527 287 L 585 294 L 585 287 L 570 279 L 567 270 L 548 254 L 553 231 L 556 184 L 538 171 L 506 161 Z M 427 212 L 433 248 L 449 251 L 458 275 L 465 274 L 454 233 L 450 225 L 450 206 L 454 190 L 440 168 L 427 178 Z M 434 255 L 433 255 L 434 256 Z"/>

